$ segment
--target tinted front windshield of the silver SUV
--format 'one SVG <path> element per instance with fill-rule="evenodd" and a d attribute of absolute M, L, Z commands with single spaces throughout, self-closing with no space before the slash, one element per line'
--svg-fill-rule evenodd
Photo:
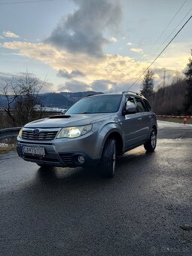
<path fill-rule="evenodd" d="M 119 110 L 122 95 L 87 97 L 72 105 L 66 114 L 114 113 Z"/>

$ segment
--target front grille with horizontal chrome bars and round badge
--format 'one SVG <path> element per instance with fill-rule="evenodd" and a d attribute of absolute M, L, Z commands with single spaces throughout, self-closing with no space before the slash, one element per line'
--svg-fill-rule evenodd
<path fill-rule="evenodd" d="M 29 131 L 23 130 L 22 139 L 33 139 L 33 140 L 52 140 L 55 139 L 56 133 L 58 131 L 49 131 L 49 132 L 40 132 L 40 133 L 32 133 Z"/>

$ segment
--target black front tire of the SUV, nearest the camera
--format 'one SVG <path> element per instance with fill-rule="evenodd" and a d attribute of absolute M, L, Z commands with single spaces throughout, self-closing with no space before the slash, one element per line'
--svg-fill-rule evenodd
<path fill-rule="evenodd" d="M 115 172 L 116 164 L 116 142 L 114 139 L 108 139 L 105 142 L 102 158 L 100 163 L 100 168 L 102 171 L 102 176 L 105 178 L 112 178 Z"/>

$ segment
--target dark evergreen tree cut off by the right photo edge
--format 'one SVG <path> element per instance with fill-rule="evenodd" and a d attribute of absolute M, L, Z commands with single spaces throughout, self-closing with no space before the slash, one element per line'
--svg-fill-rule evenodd
<path fill-rule="evenodd" d="M 191 50 L 192 55 L 192 50 Z M 184 96 L 184 111 L 186 114 L 192 114 L 192 59 L 189 59 L 187 71 L 184 72 L 187 82 L 187 90 Z"/>

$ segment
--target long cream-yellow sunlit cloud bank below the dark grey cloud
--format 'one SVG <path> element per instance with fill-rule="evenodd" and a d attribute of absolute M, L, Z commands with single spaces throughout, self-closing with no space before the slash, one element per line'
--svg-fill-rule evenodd
<path fill-rule="evenodd" d="M 129 56 L 108 54 L 98 59 L 83 53 L 74 54 L 58 50 L 50 44 L 13 41 L 6 42 L 3 46 L 19 49 L 21 55 L 41 60 L 57 72 L 63 67 L 68 72 L 81 71 L 83 67 L 84 77 L 81 77 L 81 80 L 89 84 L 96 80 L 132 81 L 148 66 L 147 62 L 137 62 Z"/>

